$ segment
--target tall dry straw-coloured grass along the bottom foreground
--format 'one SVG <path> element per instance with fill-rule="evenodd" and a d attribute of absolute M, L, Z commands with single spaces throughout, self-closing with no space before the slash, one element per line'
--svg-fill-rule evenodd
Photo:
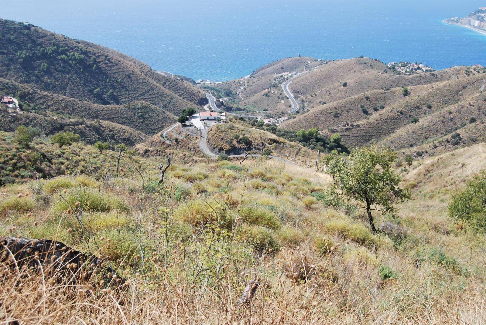
<path fill-rule="evenodd" d="M 99 281 L 59 283 L 40 267 L 0 264 L 0 324 L 484 324 L 486 291 L 470 278 L 440 271 L 376 280 L 376 265 L 342 262 L 339 251 L 313 259 L 300 248 L 261 257 L 237 274 L 226 263 L 221 280 L 196 284 L 188 276 L 188 249 L 174 263 L 152 262 L 154 272 L 130 277 L 127 290 Z M 154 259 L 156 260 L 156 259 Z M 44 265 L 44 268 L 48 266 Z M 342 276 L 332 270 L 340 269 Z M 410 270 L 409 272 L 414 272 Z M 249 279 L 260 287 L 249 305 L 238 300 Z M 437 288 L 440 286 L 441 288 Z M 16 323 L 17 322 L 17 323 Z"/>

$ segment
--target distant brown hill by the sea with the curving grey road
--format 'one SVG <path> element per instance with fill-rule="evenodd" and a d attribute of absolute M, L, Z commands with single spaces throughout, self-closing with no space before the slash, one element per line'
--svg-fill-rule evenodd
<path fill-rule="evenodd" d="M 296 65 L 294 60 L 303 62 L 301 65 Z M 293 68 L 280 69 L 282 66 Z M 262 114 L 281 116 L 287 113 L 291 107 L 289 99 L 282 91 L 281 84 L 289 78 L 289 73 L 305 70 L 309 72 L 297 77 L 290 88 L 296 100 L 307 110 L 325 103 L 333 103 L 365 92 L 383 89 L 383 87 L 426 85 L 450 80 L 464 74 L 463 68 L 451 68 L 405 76 L 387 68 L 382 62 L 369 58 L 328 62 L 313 58 L 287 58 L 260 68 L 257 70 L 258 73 L 253 73 L 249 78 L 211 86 L 223 91 L 220 96 L 228 97 L 230 95 L 229 103 L 243 108 L 244 111 L 259 110 Z M 343 84 L 347 86 L 343 86 Z"/>

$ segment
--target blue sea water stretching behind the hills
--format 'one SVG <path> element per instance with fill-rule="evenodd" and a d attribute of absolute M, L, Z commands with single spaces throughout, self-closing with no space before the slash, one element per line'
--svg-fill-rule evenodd
<path fill-rule="evenodd" d="M 442 22 L 485 5 L 486 0 L 9 0 L 2 18 L 104 45 L 157 70 L 224 81 L 297 53 L 322 59 L 363 54 L 436 69 L 486 65 L 486 35 Z"/>

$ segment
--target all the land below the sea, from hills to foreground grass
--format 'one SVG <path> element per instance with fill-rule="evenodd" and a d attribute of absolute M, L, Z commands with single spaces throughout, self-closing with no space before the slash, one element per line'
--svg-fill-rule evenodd
<path fill-rule="evenodd" d="M 486 68 L 0 32 L 1 324 L 486 322 Z"/>

